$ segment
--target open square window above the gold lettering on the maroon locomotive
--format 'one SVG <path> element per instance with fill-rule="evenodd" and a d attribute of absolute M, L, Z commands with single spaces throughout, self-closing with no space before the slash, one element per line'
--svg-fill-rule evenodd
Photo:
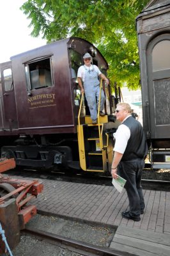
<path fill-rule="evenodd" d="M 25 65 L 27 88 L 36 90 L 52 86 L 52 67 L 50 58 Z"/>

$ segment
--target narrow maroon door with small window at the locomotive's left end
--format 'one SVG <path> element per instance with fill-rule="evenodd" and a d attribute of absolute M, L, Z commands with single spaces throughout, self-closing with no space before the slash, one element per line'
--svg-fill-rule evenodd
<path fill-rule="evenodd" d="M 17 128 L 17 111 L 11 62 L 1 64 L 4 129 Z"/>

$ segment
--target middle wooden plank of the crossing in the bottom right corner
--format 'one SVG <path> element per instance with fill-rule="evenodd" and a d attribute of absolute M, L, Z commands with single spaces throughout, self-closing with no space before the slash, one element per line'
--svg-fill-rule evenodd
<path fill-rule="evenodd" d="M 157 244 L 143 239 L 136 239 L 134 237 L 122 236 L 115 234 L 114 243 L 120 243 L 122 245 L 131 246 L 137 253 L 137 250 L 143 250 L 146 255 L 148 253 L 155 253 L 155 255 L 169 256 L 170 246 L 163 244 Z M 138 254 L 137 254 L 138 255 Z"/>

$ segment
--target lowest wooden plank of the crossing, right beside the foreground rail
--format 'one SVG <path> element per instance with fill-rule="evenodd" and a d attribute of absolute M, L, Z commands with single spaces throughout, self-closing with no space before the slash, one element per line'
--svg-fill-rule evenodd
<path fill-rule="evenodd" d="M 128 252 L 135 254 L 137 256 L 157 256 L 158 254 L 152 252 L 146 252 L 145 250 L 141 250 L 139 248 L 134 248 L 131 246 L 127 246 L 125 244 L 112 242 L 110 245 L 111 249 L 119 250 L 121 252 Z"/>

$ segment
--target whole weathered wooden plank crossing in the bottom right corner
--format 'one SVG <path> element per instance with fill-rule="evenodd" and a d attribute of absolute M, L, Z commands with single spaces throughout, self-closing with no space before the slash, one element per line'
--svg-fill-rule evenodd
<path fill-rule="evenodd" d="M 119 226 L 110 248 L 139 256 L 169 256 L 170 236 L 137 228 Z"/>

